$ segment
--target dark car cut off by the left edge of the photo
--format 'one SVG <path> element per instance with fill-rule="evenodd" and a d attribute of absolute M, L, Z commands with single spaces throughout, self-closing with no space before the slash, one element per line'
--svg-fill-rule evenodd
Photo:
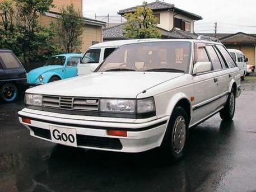
<path fill-rule="evenodd" d="M 11 50 L 0 50 L 0 99 L 14 101 L 27 88 L 27 76 L 20 60 Z"/>

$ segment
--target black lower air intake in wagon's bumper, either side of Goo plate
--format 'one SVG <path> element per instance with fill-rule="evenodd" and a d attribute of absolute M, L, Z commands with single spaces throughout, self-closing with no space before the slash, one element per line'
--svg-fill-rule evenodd
<path fill-rule="evenodd" d="M 45 139 L 52 139 L 50 135 L 50 130 L 41 129 L 30 126 L 30 129 L 34 132 L 34 134 L 38 137 L 42 137 Z M 122 149 L 122 143 L 120 139 L 117 138 L 108 138 L 108 137 L 95 137 L 89 135 L 76 135 L 77 146 L 85 146 L 85 147 L 97 147 L 97 148 L 107 148 L 107 149 Z"/>

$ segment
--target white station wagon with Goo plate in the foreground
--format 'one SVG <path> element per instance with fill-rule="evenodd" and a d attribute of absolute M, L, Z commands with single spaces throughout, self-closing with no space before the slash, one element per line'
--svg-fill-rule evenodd
<path fill-rule="evenodd" d="M 240 91 L 239 68 L 219 41 L 152 40 L 120 46 L 88 76 L 30 88 L 18 116 L 49 142 L 116 152 L 160 147 L 175 162 L 189 128 L 216 113 L 233 118 Z"/>

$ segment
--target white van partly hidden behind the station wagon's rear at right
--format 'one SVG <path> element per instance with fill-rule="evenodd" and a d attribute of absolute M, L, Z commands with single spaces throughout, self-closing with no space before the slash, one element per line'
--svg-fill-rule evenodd
<path fill-rule="evenodd" d="M 241 79 L 244 79 L 246 75 L 246 64 L 248 62 L 248 58 L 245 58 L 244 53 L 237 49 L 227 49 L 231 54 L 232 58 L 238 64 L 238 68 L 240 69 Z"/>

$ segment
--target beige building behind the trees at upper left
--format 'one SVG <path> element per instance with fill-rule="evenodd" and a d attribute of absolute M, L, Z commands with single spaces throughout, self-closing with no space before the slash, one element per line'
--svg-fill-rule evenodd
<path fill-rule="evenodd" d="M 60 8 L 70 4 L 73 4 L 75 10 L 79 10 L 82 16 L 82 0 L 54 0 L 53 4 L 55 5 L 54 8 L 51 8 L 45 15 L 39 17 L 40 25 L 48 26 L 50 22 L 57 19 Z M 89 46 L 103 41 L 103 27 L 106 26 L 106 23 L 103 21 L 87 17 L 83 17 L 83 21 L 85 22 L 85 30 L 82 35 L 81 52 L 85 51 Z M 60 43 L 60 40 L 57 38 L 55 42 Z"/>

